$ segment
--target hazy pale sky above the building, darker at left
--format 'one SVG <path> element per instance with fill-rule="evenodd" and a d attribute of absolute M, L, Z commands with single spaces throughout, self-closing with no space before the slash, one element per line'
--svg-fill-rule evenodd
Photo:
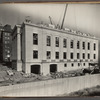
<path fill-rule="evenodd" d="M 50 23 L 61 25 L 64 10 L 64 3 L 21 3 L 21 4 L 0 4 L 0 23 L 16 24 L 25 21 L 30 16 L 32 23 Z M 64 27 L 90 33 L 100 38 L 100 4 L 68 4 Z"/>

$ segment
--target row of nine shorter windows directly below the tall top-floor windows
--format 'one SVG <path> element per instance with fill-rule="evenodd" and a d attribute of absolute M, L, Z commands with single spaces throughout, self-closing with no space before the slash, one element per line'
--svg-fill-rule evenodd
<path fill-rule="evenodd" d="M 47 51 L 47 59 L 51 59 L 51 52 Z M 33 58 L 37 59 L 38 58 L 38 51 L 33 50 Z M 59 52 L 55 52 L 55 58 L 59 59 Z M 70 58 L 74 59 L 74 53 L 70 53 Z M 82 58 L 85 59 L 85 53 L 82 54 Z M 87 58 L 90 59 L 90 54 L 87 54 Z M 96 54 L 93 55 L 93 58 L 96 59 Z M 67 59 L 67 53 L 63 52 L 63 59 Z M 80 53 L 77 53 L 77 59 L 80 59 Z"/>

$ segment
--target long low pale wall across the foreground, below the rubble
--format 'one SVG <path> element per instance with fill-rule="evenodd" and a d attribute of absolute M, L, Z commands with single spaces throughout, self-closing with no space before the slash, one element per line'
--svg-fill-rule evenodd
<path fill-rule="evenodd" d="M 93 81 L 95 80 L 95 81 Z M 60 78 L 0 87 L 0 96 L 57 96 L 100 85 L 100 74 Z"/>

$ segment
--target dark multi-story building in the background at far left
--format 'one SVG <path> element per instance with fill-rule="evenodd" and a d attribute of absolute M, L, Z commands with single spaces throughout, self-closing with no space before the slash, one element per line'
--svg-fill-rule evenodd
<path fill-rule="evenodd" d="M 11 26 L 5 25 L 1 32 L 1 60 L 3 62 L 9 62 L 11 56 Z"/>

